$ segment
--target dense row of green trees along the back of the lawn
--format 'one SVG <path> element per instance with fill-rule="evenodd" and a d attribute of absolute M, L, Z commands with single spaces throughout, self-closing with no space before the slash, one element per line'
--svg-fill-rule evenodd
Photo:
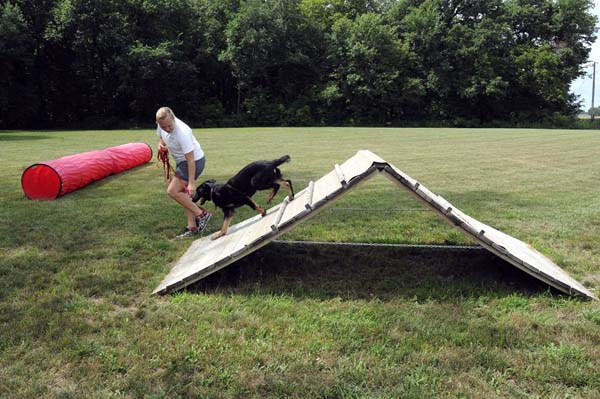
<path fill-rule="evenodd" d="M 0 128 L 561 125 L 590 0 L 0 0 Z"/>

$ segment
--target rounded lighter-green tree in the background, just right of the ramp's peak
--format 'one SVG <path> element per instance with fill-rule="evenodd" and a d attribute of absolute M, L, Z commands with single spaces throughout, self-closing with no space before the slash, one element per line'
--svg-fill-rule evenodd
<path fill-rule="evenodd" d="M 331 71 L 321 97 L 338 117 L 361 123 L 401 118 L 414 93 L 403 74 L 408 47 L 380 15 L 362 14 L 334 24 L 329 51 Z M 346 115 L 340 115 L 344 111 Z"/>

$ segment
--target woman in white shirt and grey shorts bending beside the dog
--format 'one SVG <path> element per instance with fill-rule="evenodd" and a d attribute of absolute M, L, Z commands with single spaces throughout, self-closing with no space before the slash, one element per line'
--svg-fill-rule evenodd
<path fill-rule="evenodd" d="M 183 207 L 187 226 L 177 238 L 196 236 L 202 231 L 212 214 L 192 202 L 196 192 L 196 179 L 204 170 L 204 151 L 194 137 L 192 129 L 175 117 L 169 107 L 156 111 L 158 150 L 168 149 L 177 164 L 175 178 L 169 182 L 167 194 Z"/>

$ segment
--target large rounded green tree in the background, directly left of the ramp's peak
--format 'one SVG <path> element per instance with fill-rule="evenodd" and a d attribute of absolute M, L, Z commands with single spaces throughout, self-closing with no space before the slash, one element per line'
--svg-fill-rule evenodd
<path fill-rule="evenodd" d="M 245 108 L 253 123 L 277 124 L 306 109 L 298 99 L 311 95 L 320 76 L 323 40 L 295 1 L 249 0 L 229 22 L 225 36 L 221 60 L 238 82 L 238 113 Z M 292 112 L 286 114 L 290 106 Z"/>

